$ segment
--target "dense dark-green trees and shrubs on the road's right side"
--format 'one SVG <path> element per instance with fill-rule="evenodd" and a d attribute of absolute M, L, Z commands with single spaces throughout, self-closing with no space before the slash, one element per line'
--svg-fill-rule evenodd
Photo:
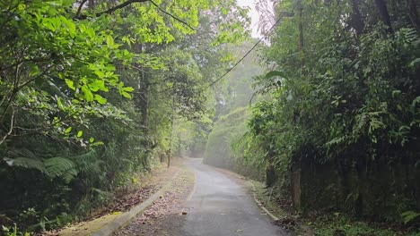
<path fill-rule="evenodd" d="M 244 142 L 298 209 L 402 222 L 420 210 L 415 1 L 281 1 Z"/>

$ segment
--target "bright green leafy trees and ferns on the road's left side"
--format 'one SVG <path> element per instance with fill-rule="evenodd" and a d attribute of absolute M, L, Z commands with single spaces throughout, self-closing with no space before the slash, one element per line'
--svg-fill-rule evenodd
<path fill-rule="evenodd" d="M 159 159 L 203 147 L 208 84 L 249 21 L 234 1 L 0 9 L 0 224 L 24 231 L 90 215 Z M 197 144 L 172 142 L 187 132 Z"/>

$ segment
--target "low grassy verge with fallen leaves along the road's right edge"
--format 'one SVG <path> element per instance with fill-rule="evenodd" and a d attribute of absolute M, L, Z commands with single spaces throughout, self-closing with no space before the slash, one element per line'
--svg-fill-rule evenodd
<path fill-rule="evenodd" d="M 341 213 L 293 212 L 292 206 L 279 203 L 272 190 L 260 181 L 249 180 L 247 187 L 255 186 L 256 198 L 279 220 L 275 222 L 292 235 L 299 236 L 420 236 L 420 229 L 405 230 L 403 227 L 386 223 L 368 223 Z"/>

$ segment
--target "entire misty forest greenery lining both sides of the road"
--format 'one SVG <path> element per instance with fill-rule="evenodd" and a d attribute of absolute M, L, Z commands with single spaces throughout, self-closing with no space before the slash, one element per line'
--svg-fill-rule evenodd
<path fill-rule="evenodd" d="M 418 235 L 418 1 L 256 8 L 261 39 L 233 0 L 0 1 L 0 234 L 90 219 L 204 156 L 263 181 L 281 225 Z"/>

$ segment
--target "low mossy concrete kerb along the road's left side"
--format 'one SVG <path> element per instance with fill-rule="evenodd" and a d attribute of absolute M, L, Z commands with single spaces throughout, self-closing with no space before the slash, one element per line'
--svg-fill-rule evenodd
<path fill-rule="evenodd" d="M 147 206 L 151 206 L 155 200 L 162 196 L 162 194 L 169 189 L 172 184 L 172 181 L 178 177 L 180 169 L 175 173 L 172 177 L 171 181 L 165 184 L 161 190 L 155 192 L 150 198 L 147 198 L 143 203 L 138 206 L 135 206 L 131 210 L 119 215 L 116 219 L 114 219 L 111 223 L 108 223 L 104 227 L 101 228 L 100 231 L 94 232 L 92 236 L 110 236 L 113 232 L 116 232 L 119 228 L 126 226 L 129 221 L 131 221 L 136 215 L 139 215 L 144 211 Z"/>

